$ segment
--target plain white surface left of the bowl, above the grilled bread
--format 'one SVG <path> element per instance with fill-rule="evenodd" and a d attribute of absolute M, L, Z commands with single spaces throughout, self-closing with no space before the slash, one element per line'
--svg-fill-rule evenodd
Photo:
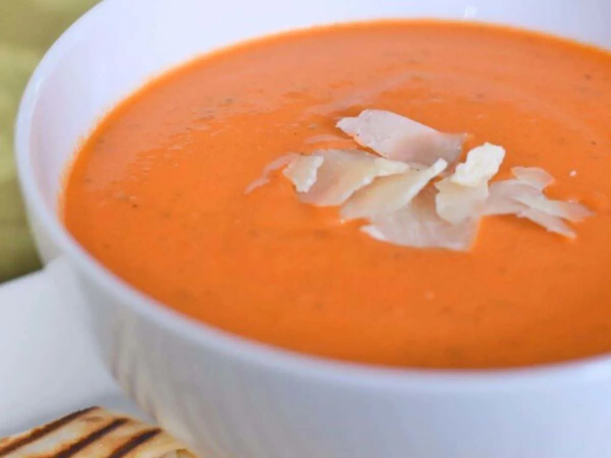
<path fill-rule="evenodd" d="M 0 437 L 90 405 L 143 417 L 98 360 L 78 299 L 58 299 L 71 281 L 60 273 L 53 283 L 38 273 L 0 287 Z M 36 294 L 20 294 L 24 288 Z"/>

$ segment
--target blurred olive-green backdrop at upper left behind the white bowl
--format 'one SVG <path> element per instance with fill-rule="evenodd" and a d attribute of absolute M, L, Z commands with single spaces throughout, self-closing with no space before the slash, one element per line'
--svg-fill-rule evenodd
<path fill-rule="evenodd" d="M 13 122 L 46 49 L 97 0 L 0 0 L 0 282 L 40 266 L 15 176 Z"/>

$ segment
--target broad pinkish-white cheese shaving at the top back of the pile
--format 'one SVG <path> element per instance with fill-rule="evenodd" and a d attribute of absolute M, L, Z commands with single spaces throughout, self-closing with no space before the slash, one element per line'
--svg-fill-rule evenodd
<path fill-rule="evenodd" d="M 337 127 L 361 146 L 384 158 L 430 166 L 437 159 L 448 164 L 461 154 L 464 134 L 443 134 L 409 118 L 383 110 L 365 110 L 342 118 Z"/>

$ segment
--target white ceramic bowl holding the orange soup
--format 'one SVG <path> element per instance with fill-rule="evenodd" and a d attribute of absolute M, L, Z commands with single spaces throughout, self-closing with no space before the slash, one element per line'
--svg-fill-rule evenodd
<path fill-rule="evenodd" d="M 49 51 L 21 105 L 18 167 L 40 252 L 76 271 L 122 387 L 203 457 L 611 457 L 608 357 L 459 373 L 290 354 L 172 313 L 97 264 L 57 219 L 79 139 L 152 75 L 254 35 L 390 16 L 474 16 L 611 47 L 607 0 L 106 0 Z"/>

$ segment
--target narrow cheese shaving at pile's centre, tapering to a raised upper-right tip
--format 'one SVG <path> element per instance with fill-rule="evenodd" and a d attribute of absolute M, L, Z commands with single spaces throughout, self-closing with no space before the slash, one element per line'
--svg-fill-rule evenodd
<path fill-rule="evenodd" d="M 348 220 L 393 213 L 406 206 L 447 165 L 444 159 L 438 159 L 425 170 L 407 170 L 399 175 L 379 178 L 355 193 L 342 207 L 340 214 Z"/>

